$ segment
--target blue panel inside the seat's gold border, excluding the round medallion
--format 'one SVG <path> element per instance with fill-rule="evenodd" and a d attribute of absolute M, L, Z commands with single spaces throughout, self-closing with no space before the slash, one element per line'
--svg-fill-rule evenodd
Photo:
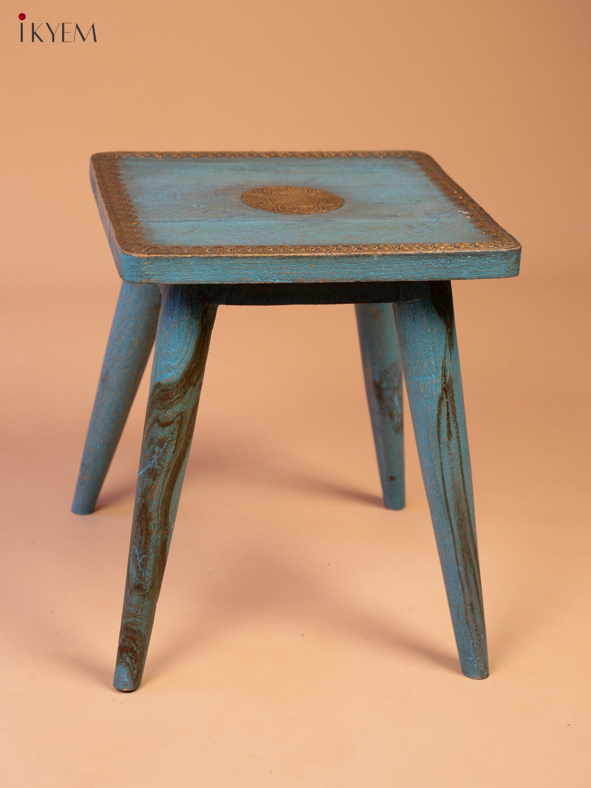
<path fill-rule="evenodd" d="M 476 227 L 411 158 L 121 158 L 148 243 L 236 246 L 478 243 Z M 325 214 L 273 214 L 243 203 L 259 186 L 333 191 Z"/>

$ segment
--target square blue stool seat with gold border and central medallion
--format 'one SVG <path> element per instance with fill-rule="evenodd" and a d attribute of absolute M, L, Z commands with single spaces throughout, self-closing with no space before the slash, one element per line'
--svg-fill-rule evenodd
<path fill-rule="evenodd" d="M 417 151 L 99 153 L 91 180 L 125 281 L 519 273 L 515 238 Z"/>

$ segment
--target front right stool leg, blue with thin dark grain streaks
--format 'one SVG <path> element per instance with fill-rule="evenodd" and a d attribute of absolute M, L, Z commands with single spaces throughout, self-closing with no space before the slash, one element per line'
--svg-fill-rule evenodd
<path fill-rule="evenodd" d="M 459 660 L 466 676 L 486 678 L 489 665 L 452 284 L 401 282 L 400 300 L 393 306 Z"/>

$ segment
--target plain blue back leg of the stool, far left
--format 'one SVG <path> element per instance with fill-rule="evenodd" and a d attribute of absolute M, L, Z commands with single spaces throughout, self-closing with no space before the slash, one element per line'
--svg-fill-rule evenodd
<path fill-rule="evenodd" d="M 95 509 L 154 344 L 159 310 L 157 284 L 121 284 L 72 503 L 76 515 Z"/>

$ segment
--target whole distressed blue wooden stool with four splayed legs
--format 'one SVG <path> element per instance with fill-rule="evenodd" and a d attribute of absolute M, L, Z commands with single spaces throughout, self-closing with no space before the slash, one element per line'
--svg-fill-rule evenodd
<path fill-rule="evenodd" d="M 519 243 L 426 154 L 106 153 L 91 180 L 123 284 L 72 511 L 89 514 L 155 339 L 114 686 L 141 682 L 217 305 L 355 303 L 385 505 L 407 385 L 459 659 L 488 673 L 452 279 Z"/>

